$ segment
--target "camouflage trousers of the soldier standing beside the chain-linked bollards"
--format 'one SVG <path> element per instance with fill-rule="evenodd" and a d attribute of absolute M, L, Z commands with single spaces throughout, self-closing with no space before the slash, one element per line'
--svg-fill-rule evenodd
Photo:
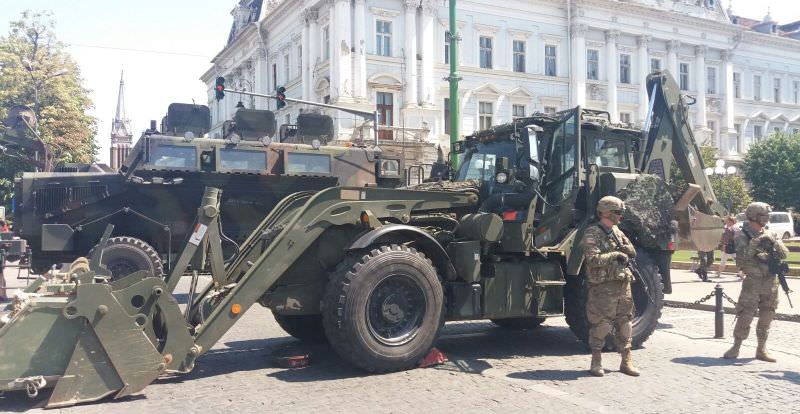
<path fill-rule="evenodd" d="M 775 318 L 775 309 L 778 308 L 778 279 L 774 276 L 747 276 L 742 282 L 742 292 L 736 303 L 736 327 L 733 336 L 738 339 L 747 339 L 750 335 L 750 324 L 758 309 L 758 323 L 756 336 L 767 339 L 769 325 Z"/>

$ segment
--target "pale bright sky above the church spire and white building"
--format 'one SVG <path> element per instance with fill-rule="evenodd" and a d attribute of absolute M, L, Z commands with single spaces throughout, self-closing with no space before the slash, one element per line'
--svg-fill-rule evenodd
<path fill-rule="evenodd" d="M 293 0 L 287 0 L 293 1 Z M 723 0 L 728 7 L 730 0 Z M 770 8 L 779 23 L 800 20 L 798 0 L 733 0 L 734 14 L 761 19 Z M 120 70 L 134 139 L 171 102 L 207 104 L 199 77 L 225 45 L 236 0 L 2 0 L 0 33 L 25 9 L 51 10 L 56 34 L 69 44 L 92 90 L 98 119 L 98 158 L 108 162 Z M 161 52 L 161 53 L 156 53 Z"/>

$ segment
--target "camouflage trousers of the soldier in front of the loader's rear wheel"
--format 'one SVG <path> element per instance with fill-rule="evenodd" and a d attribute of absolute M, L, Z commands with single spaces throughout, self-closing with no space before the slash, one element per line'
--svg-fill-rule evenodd
<path fill-rule="evenodd" d="M 617 349 L 630 348 L 633 319 L 630 282 L 615 280 L 589 285 L 586 318 L 589 321 L 589 346 L 593 350 L 603 348 L 612 329 Z"/>

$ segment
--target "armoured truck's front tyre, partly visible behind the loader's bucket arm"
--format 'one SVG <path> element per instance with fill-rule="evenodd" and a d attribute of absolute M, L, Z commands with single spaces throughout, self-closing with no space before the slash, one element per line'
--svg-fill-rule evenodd
<path fill-rule="evenodd" d="M 97 246 L 89 251 L 94 254 Z M 112 237 L 103 247 L 103 258 L 100 261 L 110 272 L 111 280 L 119 280 L 140 270 L 146 270 L 156 277 L 164 277 L 164 264 L 158 252 L 145 241 L 135 237 Z"/>

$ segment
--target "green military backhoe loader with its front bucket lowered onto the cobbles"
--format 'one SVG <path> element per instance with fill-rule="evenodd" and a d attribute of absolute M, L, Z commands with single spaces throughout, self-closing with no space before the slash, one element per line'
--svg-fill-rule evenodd
<path fill-rule="evenodd" d="M 51 407 L 130 395 L 159 375 L 191 371 L 255 303 L 290 321 L 282 324 L 290 334 L 324 335 L 369 372 L 415 366 L 445 321 L 531 327 L 565 315 L 585 339 L 578 241 L 607 194 L 628 200 L 634 222 L 626 231 L 639 252 L 633 342 L 641 345 L 661 312 L 668 280 L 659 270 L 676 237 L 702 244 L 722 231 L 677 85 L 664 73 L 648 85 L 645 137 L 580 107 L 518 119 L 460 142 L 463 162 L 450 181 L 294 193 L 228 264 L 218 233 L 224 196 L 207 189 L 165 280 L 140 271 L 109 283 L 96 253 L 90 265 L 73 263 L 65 281 L 17 296 L 0 327 L 0 390 L 54 386 Z M 662 201 L 646 200 L 669 194 L 658 176 L 669 177 L 673 160 L 692 186 L 671 210 L 654 211 Z M 695 228 L 703 220 L 718 228 Z M 193 278 L 181 313 L 175 286 L 206 244 L 212 281 L 196 288 Z"/>

